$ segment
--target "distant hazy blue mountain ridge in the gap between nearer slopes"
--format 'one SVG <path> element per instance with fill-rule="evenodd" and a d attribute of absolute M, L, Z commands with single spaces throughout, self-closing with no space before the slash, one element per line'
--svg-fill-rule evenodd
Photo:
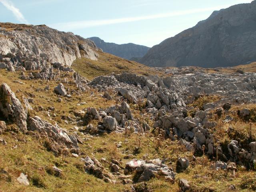
<path fill-rule="evenodd" d="M 150 49 L 149 47 L 136 45 L 133 43 L 121 45 L 107 43 L 98 37 L 91 37 L 89 39 L 92 40 L 98 48 L 101 48 L 102 51 L 129 60 L 132 58 L 142 58 Z"/>

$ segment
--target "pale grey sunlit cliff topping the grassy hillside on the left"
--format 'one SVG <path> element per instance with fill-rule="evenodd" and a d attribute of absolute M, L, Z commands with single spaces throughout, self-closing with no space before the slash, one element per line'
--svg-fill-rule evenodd
<path fill-rule="evenodd" d="M 71 66 L 76 58 L 97 60 L 95 44 L 71 32 L 65 33 L 45 25 L 0 23 L 0 58 L 12 55 L 17 66 L 44 66 L 60 63 Z"/>

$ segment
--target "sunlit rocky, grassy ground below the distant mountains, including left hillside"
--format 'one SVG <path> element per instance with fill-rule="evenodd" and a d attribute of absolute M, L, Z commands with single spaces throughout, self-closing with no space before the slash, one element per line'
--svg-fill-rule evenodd
<path fill-rule="evenodd" d="M 0 192 L 255 191 L 255 72 L 0 23 Z"/>

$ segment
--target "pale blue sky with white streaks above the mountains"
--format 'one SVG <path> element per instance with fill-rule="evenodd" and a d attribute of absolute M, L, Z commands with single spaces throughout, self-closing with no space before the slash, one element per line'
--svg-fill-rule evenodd
<path fill-rule="evenodd" d="M 214 10 L 252 0 L 0 0 L 0 22 L 46 24 L 105 42 L 159 44 Z"/>

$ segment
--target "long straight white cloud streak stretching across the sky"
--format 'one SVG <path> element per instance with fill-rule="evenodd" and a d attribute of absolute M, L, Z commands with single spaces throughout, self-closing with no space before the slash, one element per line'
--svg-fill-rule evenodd
<path fill-rule="evenodd" d="M 135 22 L 135 21 L 141 21 L 141 20 L 169 18 L 169 17 L 174 17 L 174 16 L 196 14 L 196 13 L 201 13 L 201 12 L 220 10 L 223 7 L 225 7 L 225 6 L 190 9 L 190 10 L 180 10 L 180 11 L 173 11 L 173 12 L 162 13 L 162 14 L 153 14 L 153 15 L 148 15 L 148 16 L 127 17 L 127 18 L 118 18 L 118 19 L 62 22 L 62 23 L 50 24 L 49 26 L 52 28 L 56 28 L 58 30 L 68 31 L 68 30 L 77 30 L 77 29 L 83 29 L 83 28 L 89 28 L 89 27 L 95 27 L 95 26 L 120 24 L 120 23 Z"/>

